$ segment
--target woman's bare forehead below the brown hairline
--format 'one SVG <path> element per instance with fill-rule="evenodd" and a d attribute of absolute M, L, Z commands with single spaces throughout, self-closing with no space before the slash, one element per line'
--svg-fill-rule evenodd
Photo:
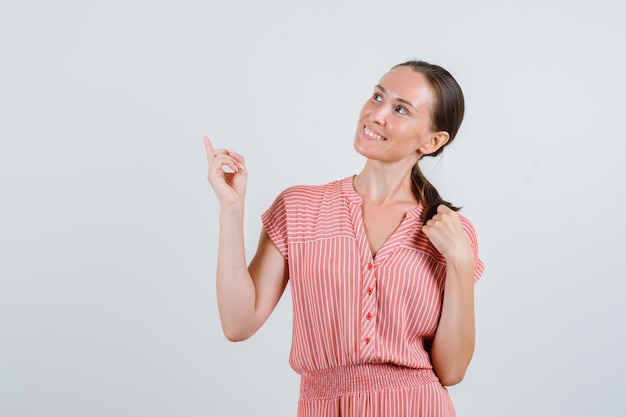
<path fill-rule="evenodd" d="M 432 89 L 424 74 L 406 66 L 396 67 L 385 74 L 380 86 L 388 95 L 407 100 L 415 107 L 433 102 Z"/>

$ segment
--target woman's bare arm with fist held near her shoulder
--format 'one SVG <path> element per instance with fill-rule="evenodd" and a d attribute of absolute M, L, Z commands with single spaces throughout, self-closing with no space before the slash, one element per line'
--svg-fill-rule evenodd
<path fill-rule="evenodd" d="M 422 229 L 446 257 L 445 296 L 431 357 L 443 385 L 463 380 L 474 353 L 474 255 L 458 215 L 445 206 Z"/>

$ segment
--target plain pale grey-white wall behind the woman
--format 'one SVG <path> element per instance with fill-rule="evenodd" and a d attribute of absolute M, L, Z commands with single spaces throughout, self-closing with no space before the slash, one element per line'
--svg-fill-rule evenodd
<path fill-rule="evenodd" d="M 259 216 L 358 173 L 357 116 L 407 59 L 464 125 L 426 165 L 487 270 L 459 416 L 624 416 L 626 26 L 618 0 L 0 3 L 0 415 L 292 416 L 290 299 L 227 342 L 201 141 Z"/>

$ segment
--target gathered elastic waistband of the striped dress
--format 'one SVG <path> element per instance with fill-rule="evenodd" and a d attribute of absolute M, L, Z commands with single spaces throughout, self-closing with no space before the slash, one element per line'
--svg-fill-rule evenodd
<path fill-rule="evenodd" d="M 330 399 L 357 392 L 402 389 L 439 382 L 432 369 L 383 364 L 340 366 L 303 372 L 300 400 Z"/>

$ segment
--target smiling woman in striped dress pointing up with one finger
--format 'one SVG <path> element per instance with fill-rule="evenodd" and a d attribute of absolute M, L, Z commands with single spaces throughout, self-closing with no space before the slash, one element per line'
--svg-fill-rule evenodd
<path fill-rule="evenodd" d="M 262 215 L 250 265 L 244 159 L 204 138 L 220 203 L 224 334 L 254 334 L 290 282 L 298 416 L 455 415 L 445 386 L 463 379 L 472 357 L 483 264 L 472 224 L 441 199 L 418 161 L 454 139 L 463 112 L 445 69 L 393 67 L 361 110 L 354 148 L 366 158 L 363 170 L 283 191 Z"/>

